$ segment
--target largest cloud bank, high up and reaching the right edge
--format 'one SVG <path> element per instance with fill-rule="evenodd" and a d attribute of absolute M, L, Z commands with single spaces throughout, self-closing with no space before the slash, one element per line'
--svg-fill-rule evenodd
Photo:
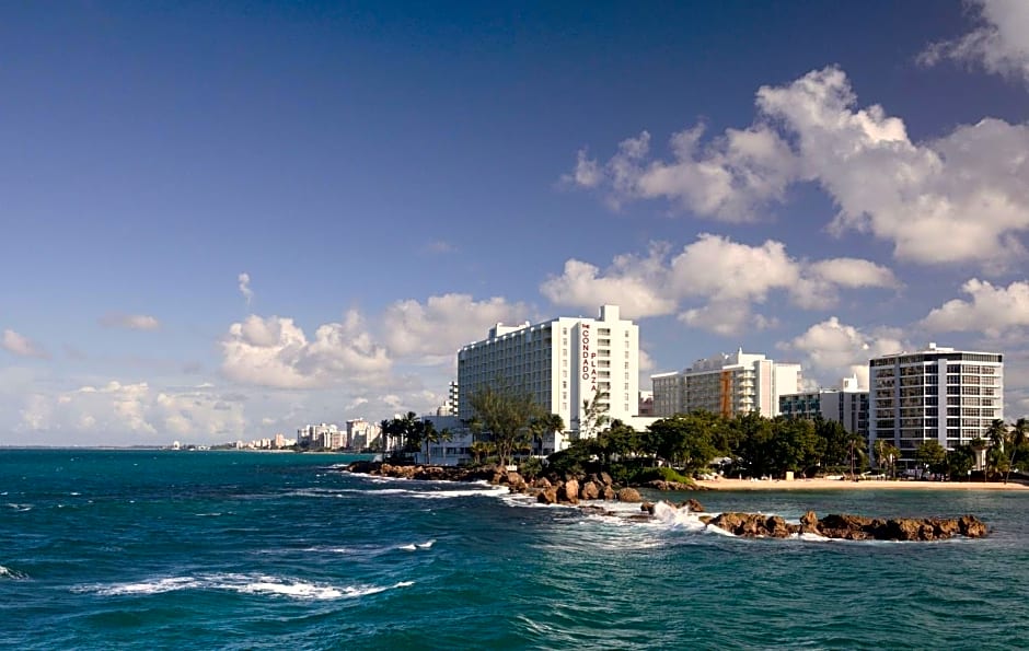
<path fill-rule="evenodd" d="M 832 232 L 892 242 L 899 259 L 971 261 L 996 272 L 1025 253 L 1018 235 L 1029 230 L 1029 125 L 987 118 L 912 142 L 901 118 L 878 105 L 857 107 L 835 67 L 762 86 L 756 108 L 751 127 L 707 146 L 703 129 L 677 133 L 671 162 L 650 156 L 644 132 L 604 165 L 580 152 L 566 178 L 590 179 L 577 184 L 602 188 L 614 206 L 664 198 L 724 221 L 783 201 L 790 184 L 814 183 L 839 208 Z"/>

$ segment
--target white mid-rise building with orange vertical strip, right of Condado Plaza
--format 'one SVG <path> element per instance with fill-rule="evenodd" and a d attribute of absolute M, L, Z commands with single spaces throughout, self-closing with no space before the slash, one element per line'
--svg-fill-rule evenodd
<path fill-rule="evenodd" d="M 778 414 L 778 397 L 800 391 L 800 364 L 775 362 L 764 354 L 718 353 L 684 371 L 650 376 L 654 415 L 667 418 L 698 409 L 726 417 Z"/>

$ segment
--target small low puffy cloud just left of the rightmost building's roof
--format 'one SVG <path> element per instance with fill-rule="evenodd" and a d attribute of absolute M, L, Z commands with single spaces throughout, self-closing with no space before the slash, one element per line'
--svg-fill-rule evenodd
<path fill-rule="evenodd" d="M 898 329 L 864 332 L 833 316 L 812 325 L 790 341 L 779 342 L 778 348 L 802 353 L 805 368 L 818 374 L 825 385 L 835 385 L 840 377 L 857 375 L 858 385 L 868 388 L 868 360 L 904 350 L 901 337 Z"/>

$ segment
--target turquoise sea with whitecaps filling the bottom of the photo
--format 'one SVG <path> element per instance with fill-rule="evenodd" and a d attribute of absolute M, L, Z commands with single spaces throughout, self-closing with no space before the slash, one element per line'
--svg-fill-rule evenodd
<path fill-rule="evenodd" d="M 1029 648 L 1026 493 L 697 496 L 993 530 L 745 540 L 681 513 L 632 522 L 339 472 L 352 458 L 0 451 L 0 647 Z"/>

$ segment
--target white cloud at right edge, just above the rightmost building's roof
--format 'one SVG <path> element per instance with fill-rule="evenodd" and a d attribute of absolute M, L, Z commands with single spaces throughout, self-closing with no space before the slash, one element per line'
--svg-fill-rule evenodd
<path fill-rule="evenodd" d="M 971 300 L 947 301 L 929 312 L 921 325 L 937 333 L 982 332 L 990 337 L 1029 327 L 1029 281 L 1004 288 L 973 278 L 961 290 Z"/>

